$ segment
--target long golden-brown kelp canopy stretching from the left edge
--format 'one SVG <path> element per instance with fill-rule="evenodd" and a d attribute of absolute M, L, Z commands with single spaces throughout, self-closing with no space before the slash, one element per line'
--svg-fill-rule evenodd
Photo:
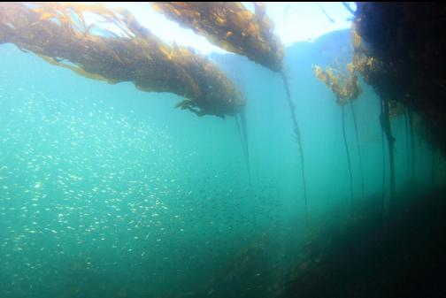
<path fill-rule="evenodd" d="M 244 107 L 242 94 L 216 65 L 192 50 L 168 46 L 123 9 L 0 3 L 0 44 L 5 42 L 91 79 L 132 81 L 143 91 L 186 97 L 177 106 L 200 116 L 235 115 Z"/>

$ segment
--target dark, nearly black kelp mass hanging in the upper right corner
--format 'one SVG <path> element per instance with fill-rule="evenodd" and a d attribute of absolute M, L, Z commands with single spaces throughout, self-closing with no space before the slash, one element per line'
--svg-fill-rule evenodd
<path fill-rule="evenodd" d="M 446 151 L 445 4 L 358 3 L 356 56 L 365 81 L 404 103 L 427 124 L 427 139 Z M 358 39 L 359 40 L 359 39 Z"/>

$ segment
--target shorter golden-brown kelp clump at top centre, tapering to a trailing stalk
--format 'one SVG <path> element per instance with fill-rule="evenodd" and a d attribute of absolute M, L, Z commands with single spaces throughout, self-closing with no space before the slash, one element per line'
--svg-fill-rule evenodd
<path fill-rule="evenodd" d="M 273 34 L 264 4 L 256 3 L 255 13 L 240 2 L 156 2 L 152 6 L 213 44 L 273 72 L 282 71 L 283 46 Z"/>

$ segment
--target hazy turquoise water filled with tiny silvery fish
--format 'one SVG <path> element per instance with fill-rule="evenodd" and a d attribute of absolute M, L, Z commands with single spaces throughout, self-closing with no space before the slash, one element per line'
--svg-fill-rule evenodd
<path fill-rule="evenodd" d="M 280 75 L 243 57 L 211 56 L 248 101 L 249 177 L 234 118 L 199 118 L 173 109 L 179 96 L 88 80 L 2 45 L 1 296 L 281 294 L 288 274 L 309 257 L 303 247 L 311 234 L 350 217 L 341 109 L 311 70 L 348 61 L 349 34 L 287 49 L 308 221 Z M 363 173 L 346 110 L 357 206 L 380 201 L 382 189 L 380 102 L 361 85 L 364 93 L 353 104 Z M 393 119 L 392 128 L 398 193 L 411 178 L 404 117 Z M 421 134 L 415 145 L 417 184 L 438 185 L 440 157 L 434 156 L 433 174 L 430 145 Z M 385 171 L 388 192 L 388 166 Z"/>

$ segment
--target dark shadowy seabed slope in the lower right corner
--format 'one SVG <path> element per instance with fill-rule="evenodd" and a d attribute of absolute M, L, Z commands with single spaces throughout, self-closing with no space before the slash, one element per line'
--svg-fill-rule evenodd
<path fill-rule="evenodd" d="M 281 298 L 444 297 L 445 194 L 406 187 L 391 218 L 367 203 L 350 224 L 321 233 L 327 246 L 296 267 Z"/>

